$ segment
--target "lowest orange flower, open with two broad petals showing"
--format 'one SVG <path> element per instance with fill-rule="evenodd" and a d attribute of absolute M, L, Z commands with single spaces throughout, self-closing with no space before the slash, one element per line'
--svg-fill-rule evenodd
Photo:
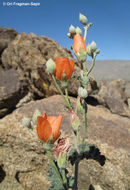
<path fill-rule="evenodd" d="M 41 141 L 47 142 L 52 138 L 52 141 L 55 142 L 59 137 L 60 125 L 62 122 L 62 115 L 58 117 L 47 116 L 44 113 L 43 116 L 37 117 L 37 134 Z"/>

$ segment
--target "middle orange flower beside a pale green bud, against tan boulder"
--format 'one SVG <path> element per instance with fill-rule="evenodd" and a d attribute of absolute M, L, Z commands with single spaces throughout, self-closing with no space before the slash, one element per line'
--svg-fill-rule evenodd
<path fill-rule="evenodd" d="M 74 71 L 74 62 L 70 61 L 68 58 L 65 57 L 56 57 L 55 64 L 56 64 L 56 71 L 54 74 L 55 77 L 59 80 L 62 80 L 63 73 L 65 73 L 66 78 L 70 79 Z"/>

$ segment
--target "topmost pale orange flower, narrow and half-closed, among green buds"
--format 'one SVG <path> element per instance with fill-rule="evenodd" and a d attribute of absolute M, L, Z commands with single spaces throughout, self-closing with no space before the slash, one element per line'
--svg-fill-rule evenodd
<path fill-rule="evenodd" d="M 84 38 L 80 34 L 75 34 L 73 48 L 75 53 L 80 53 L 82 50 L 86 52 L 86 44 Z"/>

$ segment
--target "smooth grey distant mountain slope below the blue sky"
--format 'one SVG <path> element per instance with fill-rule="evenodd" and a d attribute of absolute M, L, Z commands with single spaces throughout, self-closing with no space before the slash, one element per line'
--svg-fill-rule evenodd
<path fill-rule="evenodd" d="M 87 68 L 91 67 L 91 64 L 91 61 L 87 61 Z M 124 79 L 130 82 L 130 60 L 97 60 L 91 75 L 98 82 L 114 79 Z"/>

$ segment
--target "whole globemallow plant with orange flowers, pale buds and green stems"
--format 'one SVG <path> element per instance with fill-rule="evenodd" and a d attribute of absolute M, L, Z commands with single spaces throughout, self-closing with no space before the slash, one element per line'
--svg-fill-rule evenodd
<path fill-rule="evenodd" d="M 45 110 L 43 110 L 43 115 L 37 110 L 32 120 L 25 118 L 23 121 L 23 124 L 28 125 L 29 129 L 30 126 L 32 128 L 36 126 L 37 136 L 47 152 L 50 162 L 48 179 L 51 185 L 48 188 L 49 190 L 78 190 L 79 163 L 83 159 L 93 159 L 103 166 L 106 160 L 96 145 L 86 141 L 88 127 L 87 87 L 90 82 L 90 73 L 95 65 L 95 58 L 100 50 L 97 49 L 94 41 L 88 45 L 85 42 L 87 31 L 92 23 L 88 23 L 87 17 L 83 14 L 79 15 L 79 20 L 84 26 L 84 35 L 79 27 L 75 28 L 73 25 L 69 27 L 67 35 L 73 40 L 72 50 L 81 68 L 80 74 L 73 75 L 75 63 L 66 57 L 55 57 L 54 60 L 49 59 L 46 62 L 46 70 L 66 103 L 66 110 L 70 115 L 70 123 L 73 129 L 73 143 L 70 145 L 69 139 L 66 137 L 60 138 L 62 115 L 47 116 L 48 113 L 46 114 Z M 87 56 L 92 58 L 92 65 L 89 69 L 85 65 Z M 72 77 L 76 77 L 80 82 L 75 109 L 72 107 L 68 96 L 69 81 Z M 83 131 L 82 134 L 81 130 Z M 55 143 L 57 143 L 56 146 Z M 55 159 L 53 159 L 52 149 L 55 149 Z M 69 164 L 74 166 L 74 174 L 69 174 Z M 89 189 L 91 188 L 92 186 Z"/>

